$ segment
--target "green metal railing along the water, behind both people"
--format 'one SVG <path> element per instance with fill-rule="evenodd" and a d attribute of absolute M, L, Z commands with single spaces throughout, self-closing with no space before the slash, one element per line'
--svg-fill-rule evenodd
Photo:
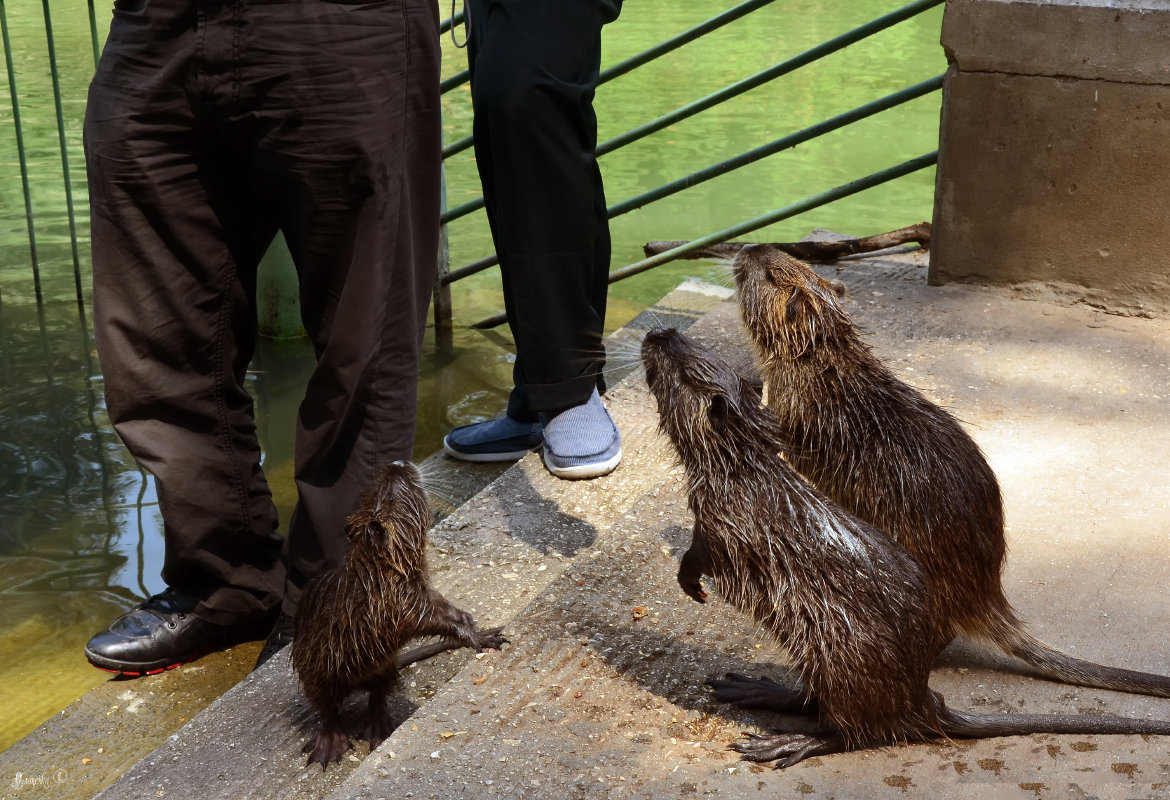
<path fill-rule="evenodd" d="M 94 60 L 96 64 L 99 53 L 98 29 L 94 11 L 94 0 L 87 0 L 87 1 L 89 8 L 89 25 L 92 37 Z M 745 18 L 752 12 L 770 5 L 772 1 L 773 0 L 746 0 L 744 2 L 741 2 L 739 5 L 736 5 L 735 7 L 711 18 L 710 20 L 707 20 L 701 25 L 694 26 L 693 28 L 675 36 L 672 36 L 665 40 L 663 42 L 655 44 L 654 47 L 633 57 L 629 57 L 618 64 L 606 68 L 601 73 L 600 81 L 604 84 L 617 77 L 628 75 L 634 70 L 636 70 L 638 68 L 641 68 L 651 63 L 655 58 L 665 54 L 673 53 L 674 50 L 684 47 L 686 44 L 694 42 L 716 29 L 728 26 L 737 20 L 741 20 L 742 18 Z M 847 30 L 838 36 L 834 36 L 833 39 L 830 39 L 828 41 L 817 47 L 813 47 L 804 53 L 800 53 L 796 56 L 780 61 L 755 75 L 739 80 L 736 83 L 732 83 L 731 85 L 721 89 L 720 91 L 716 91 L 714 94 L 707 95 L 706 97 L 701 97 L 690 103 L 687 103 L 675 109 L 674 111 L 670 111 L 669 113 L 648 120 L 641 125 L 638 125 L 626 131 L 625 133 L 621 133 L 612 139 L 603 142 L 597 147 L 598 156 L 604 157 L 634 142 L 638 142 L 659 131 L 662 131 L 663 129 L 674 125 L 677 122 L 694 117 L 713 108 L 716 108 L 720 104 L 725 103 L 732 98 L 736 98 L 752 89 L 762 87 L 765 83 L 775 81 L 784 75 L 789 75 L 797 69 L 804 68 L 808 64 L 817 62 L 820 58 L 824 58 L 825 56 L 834 54 L 839 50 L 842 50 L 844 48 L 861 42 L 873 36 L 874 34 L 878 34 L 895 25 L 904 22 L 906 20 L 909 20 L 930 8 L 934 8 L 935 6 L 941 5 L 942 2 L 943 0 L 915 0 L 914 2 L 902 6 L 901 8 L 897 8 L 888 14 L 885 14 L 870 22 L 867 22 L 865 25 L 853 28 L 852 30 Z M 54 92 L 54 105 L 56 110 L 56 127 L 58 135 L 60 158 L 64 174 L 66 215 L 68 220 L 69 236 L 71 242 L 71 256 L 74 267 L 74 278 L 76 284 L 77 304 L 78 304 L 78 311 L 82 315 L 82 319 L 84 320 L 85 311 L 84 311 L 84 301 L 82 291 L 83 268 L 82 268 L 81 250 L 78 248 L 80 235 L 77 233 L 77 226 L 76 226 L 78 213 L 77 209 L 75 208 L 73 189 L 69 180 L 70 158 L 71 156 L 77 156 L 77 153 L 70 153 L 70 149 L 68 146 L 66 137 L 66 117 L 62 105 L 61 82 L 57 75 L 57 55 L 56 55 L 55 43 L 53 40 L 53 23 L 49 11 L 49 0 L 42 0 L 42 13 L 44 18 L 48 58 L 53 80 L 53 92 Z M 441 30 L 443 33 L 447 33 L 454 26 L 457 26 L 461 21 L 462 21 L 462 14 L 457 14 L 454 18 L 443 21 Z M 27 143 L 25 142 L 23 129 L 21 126 L 20 102 L 18 99 L 20 95 L 18 92 L 16 73 L 14 69 L 13 57 L 12 57 L 12 46 L 9 41 L 8 20 L 5 9 L 5 0 L 0 0 L 0 27 L 2 27 L 2 34 L 4 34 L 4 49 L 6 58 L 5 63 L 7 65 L 7 71 L 8 71 L 8 94 L 12 103 L 12 116 L 14 122 L 14 137 L 15 137 L 14 140 L 15 140 L 15 149 L 18 152 L 18 160 L 20 163 L 21 180 L 23 188 L 23 202 L 25 202 L 25 212 L 26 212 L 27 228 L 28 228 L 29 258 L 33 270 L 33 282 L 36 289 L 36 299 L 37 304 L 40 305 L 42 302 L 41 289 L 40 289 L 41 271 L 40 271 L 40 257 L 37 251 L 37 241 L 36 241 L 36 226 L 34 225 L 33 195 L 29 189 L 29 171 L 28 171 L 28 163 L 26 154 Z M 463 85 L 467 82 L 467 80 L 468 80 L 467 71 L 466 70 L 460 71 L 456 75 L 448 77 L 442 82 L 442 90 L 445 92 L 449 92 Z M 723 160 L 718 164 L 713 164 L 703 170 L 694 172 L 683 178 L 679 178 L 676 180 L 673 180 L 670 182 L 663 184 L 658 187 L 647 188 L 646 191 L 635 196 L 625 199 L 620 202 L 612 205 L 608 209 L 608 214 L 611 218 L 620 216 L 621 214 L 626 214 L 634 209 L 642 208 L 649 204 L 658 202 L 679 192 L 693 189 L 696 186 L 711 180 L 713 178 L 727 174 L 735 170 L 739 170 L 748 165 L 758 164 L 762 159 L 765 159 L 769 156 L 779 153 L 785 150 L 790 150 L 797 146 L 798 144 L 810 142 L 831 131 L 839 130 L 847 125 L 854 124 L 859 120 L 872 117 L 873 115 L 880 113 L 888 109 L 896 108 L 903 103 L 908 103 L 913 99 L 916 99 L 930 92 L 938 91 L 941 85 L 942 85 L 942 76 L 936 76 L 922 81 L 921 83 L 908 87 L 901 91 L 896 91 L 886 97 L 872 101 L 851 111 L 825 119 L 820 123 L 805 127 L 800 131 L 787 133 L 780 138 L 775 139 L 771 143 L 750 150 L 748 152 L 741 153 L 739 156 L 736 156 L 734 158 Z M 443 157 L 449 158 L 452 156 L 455 156 L 456 153 L 460 153 L 470 147 L 470 145 L 472 145 L 472 137 L 464 136 L 448 144 L 443 149 Z M 770 213 L 762 214 L 750 220 L 745 220 L 738 225 L 725 228 L 723 230 L 707 233 L 706 235 L 695 239 L 693 242 L 689 242 L 686 246 L 675 248 L 673 250 L 668 250 L 666 253 L 661 253 L 649 258 L 644 258 L 641 261 L 627 264 L 622 268 L 614 270 L 613 273 L 611 273 L 611 282 L 620 281 L 631 277 L 633 275 L 641 274 L 647 269 L 652 269 L 656 265 L 672 261 L 690 250 L 704 247 L 707 244 L 727 241 L 728 239 L 743 235 L 751 230 L 756 230 L 768 225 L 772 225 L 777 221 L 789 219 L 791 216 L 811 211 L 813 208 L 818 208 L 826 204 L 831 204 L 835 200 L 848 196 L 849 194 L 854 194 L 856 192 L 861 192 L 867 188 L 880 186 L 881 184 L 887 182 L 889 180 L 894 180 L 895 178 L 900 178 L 911 172 L 927 168 L 934 165 L 936 160 L 937 160 L 936 153 L 927 153 L 918 158 L 911 159 L 903 164 L 899 164 L 896 166 L 892 166 L 887 170 L 882 170 L 870 175 L 858 178 L 834 189 L 823 192 L 820 194 L 806 198 L 804 200 L 797 200 L 790 202 L 789 205 L 782 208 L 777 208 Z M 441 218 L 442 223 L 445 226 L 442 232 L 443 242 L 446 242 L 446 236 L 447 236 L 446 226 L 448 223 L 457 219 L 464 218 L 469 214 L 473 214 L 474 212 L 481 209 L 482 207 L 483 207 L 483 199 L 477 198 L 469 202 L 464 202 L 455 208 L 443 211 Z M 442 247 L 441 251 L 443 257 L 446 257 L 447 248 Z M 457 267 L 455 269 L 450 269 L 450 265 L 447 263 L 440 264 L 440 274 L 436 281 L 436 290 L 435 290 L 435 303 L 436 303 L 435 320 L 436 325 L 440 329 L 445 326 L 449 327 L 450 325 L 450 319 L 452 319 L 452 303 L 449 295 L 450 285 L 456 281 L 460 281 L 470 275 L 488 269 L 489 267 L 493 267 L 496 263 L 498 263 L 497 257 L 494 254 L 490 254 L 470 263 Z M 477 327 L 491 326 L 491 325 L 497 325 L 502 322 L 503 322 L 503 315 L 497 315 L 489 319 L 482 320 L 481 323 L 477 323 L 475 326 Z"/>

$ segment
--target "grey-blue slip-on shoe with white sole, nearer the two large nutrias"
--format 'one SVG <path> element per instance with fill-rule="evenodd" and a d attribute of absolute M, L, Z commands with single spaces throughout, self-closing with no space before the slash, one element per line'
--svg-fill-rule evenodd
<path fill-rule="evenodd" d="M 544 465 L 559 478 L 590 478 L 612 473 L 621 461 L 621 434 L 597 389 L 580 406 L 541 414 Z"/>

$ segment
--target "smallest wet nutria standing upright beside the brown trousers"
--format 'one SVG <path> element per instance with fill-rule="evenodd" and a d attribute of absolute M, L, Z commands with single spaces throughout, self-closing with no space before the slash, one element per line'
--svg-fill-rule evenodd
<path fill-rule="evenodd" d="M 370 691 L 363 738 L 373 750 L 394 729 L 386 697 L 398 680 L 398 651 L 415 636 L 443 636 L 475 650 L 498 648 L 498 630 L 475 622 L 427 582 L 431 510 L 418 468 L 395 461 L 378 473 L 350 517 L 345 561 L 314 578 L 301 595 L 292 667 L 322 726 L 304 749 L 324 768 L 350 747 L 338 716 L 356 689 Z M 433 651 L 442 649 L 440 644 Z M 424 648 L 407 654 L 417 657 Z M 406 661 L 406 658 L 404 658 Z"/>

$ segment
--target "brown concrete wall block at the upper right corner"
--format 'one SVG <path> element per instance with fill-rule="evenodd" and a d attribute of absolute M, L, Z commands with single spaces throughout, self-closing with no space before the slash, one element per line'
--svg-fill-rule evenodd
<path fill-rule="evenodd" d="M 1170 0 L 949 0 L 930 281 L 1170 313 Z"/>

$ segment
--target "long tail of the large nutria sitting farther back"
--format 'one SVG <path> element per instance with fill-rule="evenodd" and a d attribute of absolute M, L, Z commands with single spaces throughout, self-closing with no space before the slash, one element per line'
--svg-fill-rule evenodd
<path fill-rule="evenodd" d="M 1170 677 L 1074 658 L 1030 635 L 1010 612 L 999 614 L 983 635 L 989 636 L 1009 655 L 1026 663 L 1038 675 L 1053 681 L 1093 689 L 1170 697 Z"/>

